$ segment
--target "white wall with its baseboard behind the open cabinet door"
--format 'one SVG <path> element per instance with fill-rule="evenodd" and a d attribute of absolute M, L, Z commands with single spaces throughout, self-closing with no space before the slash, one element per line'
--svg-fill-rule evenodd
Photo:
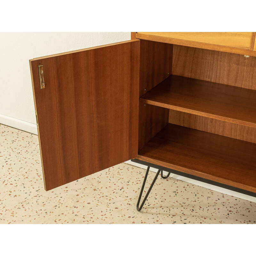
<path fill-rule="evenodd" d="M 0 33 L 0 124 L 37 134 L 29 59 L 130 39 L 131 32 Z"/>

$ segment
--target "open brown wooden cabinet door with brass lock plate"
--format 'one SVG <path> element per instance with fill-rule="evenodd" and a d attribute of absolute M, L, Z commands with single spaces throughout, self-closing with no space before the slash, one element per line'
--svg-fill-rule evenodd
<path fill-rule="evenodd" d="M 30 60 L 45 190 L 138 156 L 140 40 Z"/>

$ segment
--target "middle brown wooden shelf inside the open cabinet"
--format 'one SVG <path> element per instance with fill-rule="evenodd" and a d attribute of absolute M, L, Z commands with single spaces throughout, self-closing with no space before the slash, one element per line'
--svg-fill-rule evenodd
<path fill-rule="evenodd" d="M 141 102 L 256 127 L 256 91 L 171 75 Z"/>

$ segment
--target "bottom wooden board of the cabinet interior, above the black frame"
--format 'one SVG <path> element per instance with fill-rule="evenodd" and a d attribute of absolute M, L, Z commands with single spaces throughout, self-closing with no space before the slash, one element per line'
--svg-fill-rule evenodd
<path fill-rule="evenodd" d="M 256 192 L 256 144 L 167 124 L 137 159 Z"/>

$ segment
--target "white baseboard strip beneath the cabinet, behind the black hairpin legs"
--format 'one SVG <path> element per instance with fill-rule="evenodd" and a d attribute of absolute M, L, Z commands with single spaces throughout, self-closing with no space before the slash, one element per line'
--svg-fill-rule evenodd
<path fill-rule="evenodd" d="M 142 169 L 147 169 L 146 165 L 137 164 L 137 163 L 132 162 L 131 160 L 126 161 L 125 163 L 126 164 L 131 164 L 131 165 L 134 165 L 134 166 L 137 166 L 137 167 L 140 167 Z M 157 169 L 151 167 L 150 171 L 157 172 Z M 167 173 L 168 172 L 164 172 L 164 175 L 166 175 Z M 248 201 L 256 203 L 256 197 L 254 197 L 254 196 L 248 196 L 248 195 L 245 195 L 245 194 L 242 194 L 242 193 L 238 193 L 238 192 L 233 191 L 233 190 L 229 190 L 229 189 L 226 189 L 226 188 L 220 188 L 218 186 L 214 186 L 214 185 L 211 185 L 211 184 L 208 184 L 208 183 L 204 183 L 202 181 L 186 178 L 186 177 L 183 177 L 183 176 L 180 176 L 180 175 L 176 175 L 176 174 L 173 174 L 173 173 L 171 173 L 171 175 L 169 177 L 174 178 L 176 180 L 182 180 L 182 181 L 185 181 L 185 182 L 188 182 L 188 183 L 191 183 L 191 184 L 203 187 L 203 188 L 208 188 L 208 189 L 211 189 L 211 190 L 214 190 L 214 191 L 217 191 L 217 192 L 220 192 L 220 193 L 224 193 L 224 194 L 227 194 L 227 195 L 230 195 L 230 196 L 239 197 L 241 199 L 245 199 L 245 200 L 248 200 Z"/>

